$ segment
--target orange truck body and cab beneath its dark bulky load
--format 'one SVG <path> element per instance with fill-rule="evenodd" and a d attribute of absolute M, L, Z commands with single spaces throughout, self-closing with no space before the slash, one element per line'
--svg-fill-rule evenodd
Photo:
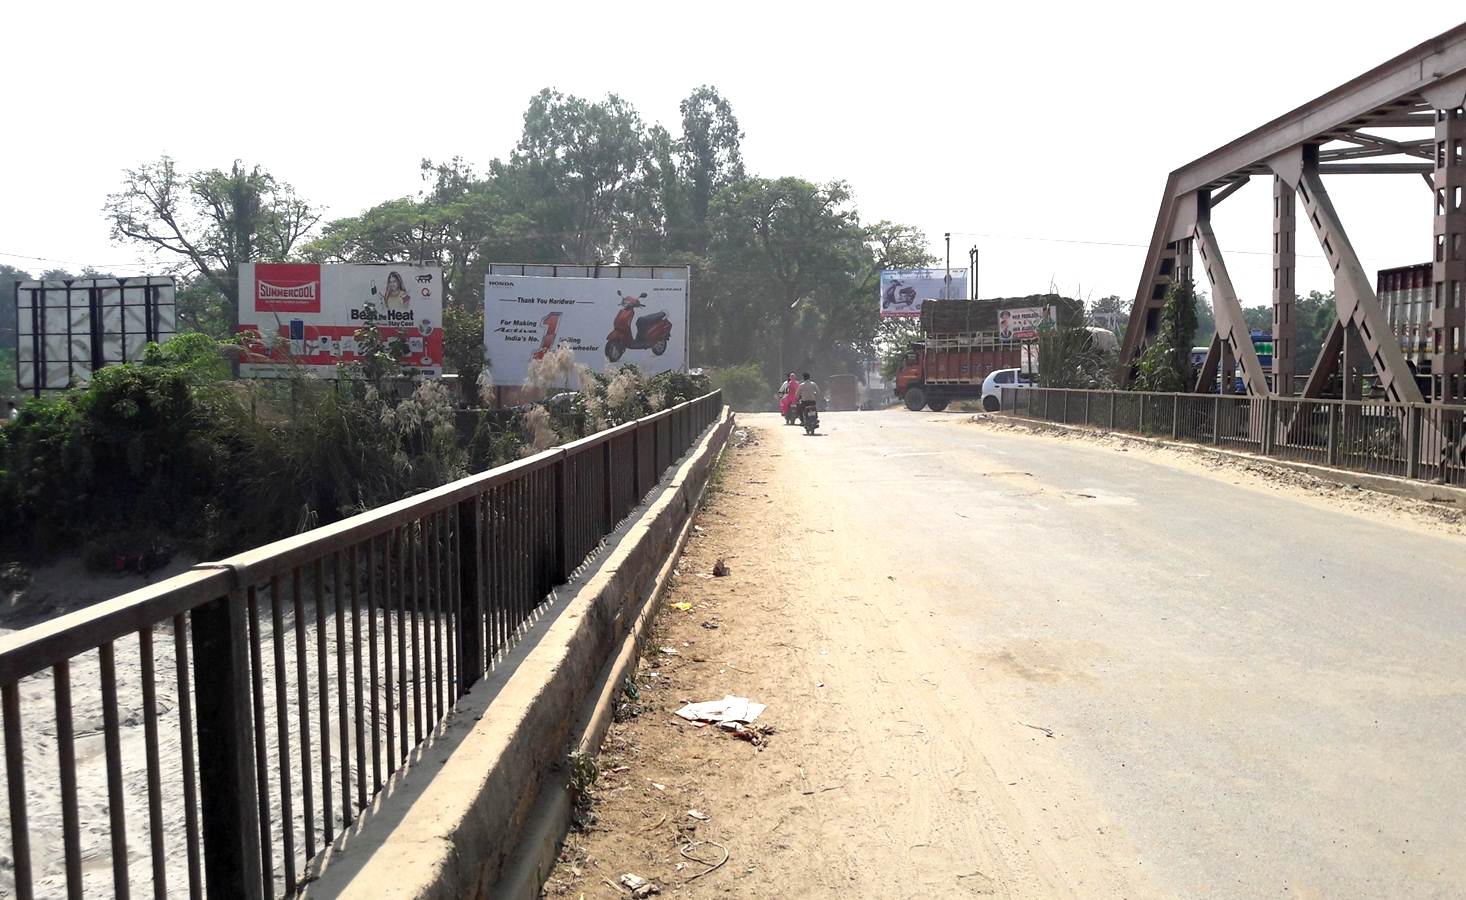
<path fill-rule="evenodd" d="M 953 400 L 981 400 L 982 381 L 995 369 L 1034 371 L 1034 342 L 1001 340 L 997 333 L 928 334 L 906 347 L 896 372 L 896 396 L 906 409 L 932 412 Z"/>

